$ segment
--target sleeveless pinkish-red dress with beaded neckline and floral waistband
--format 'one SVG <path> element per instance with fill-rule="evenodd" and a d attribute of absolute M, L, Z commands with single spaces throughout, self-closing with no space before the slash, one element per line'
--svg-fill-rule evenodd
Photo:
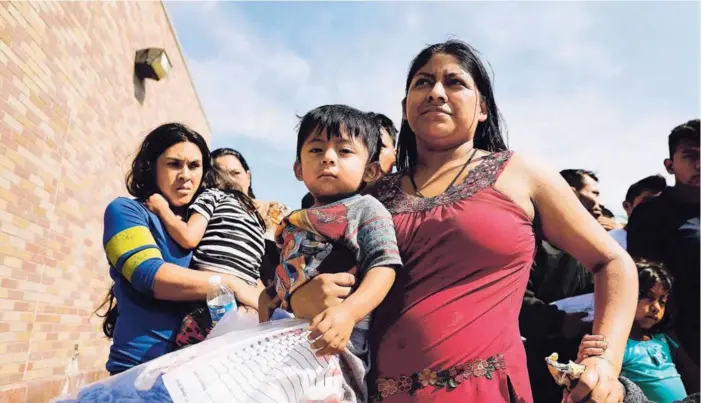
<path fill-rule="evenodd" d="M 402 191 L 402 173 L 377 183 L 404 267 L 373 320 L 376 400 L 532 403 L 518 313 L 534 226 L 494 189 L 511 155 L 433 198 Z"/>

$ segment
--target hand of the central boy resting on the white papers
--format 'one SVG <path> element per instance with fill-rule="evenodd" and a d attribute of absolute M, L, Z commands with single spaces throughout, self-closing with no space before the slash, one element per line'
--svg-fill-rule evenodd
<path fill-rule="evenodd" d="M 342 305 L 326 309 L 312 320 L 309 330 L 311 337 L 319 339 L 312 348 L 317 356 L 334 355 L 343 352 L 353 332 L 355 320 Z"/>

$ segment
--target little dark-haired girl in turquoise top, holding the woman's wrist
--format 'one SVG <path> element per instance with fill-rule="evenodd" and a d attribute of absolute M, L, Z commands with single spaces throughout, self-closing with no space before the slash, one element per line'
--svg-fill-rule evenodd
<path fill-rule="evenodd" d="M 675 362 L 690 362 L 679 344 L 665 334 L 672 325 L 667 298 L 674 280 L 661 264 L 641 260 L 637 266 L 640 288 L 638 307 L 626 343 L 621 376 L 637 384 L 648 399 L 672 403 L 686 397 L 686 389 Z M 605 351 L 604 340 L 587 335 L 579 346 L 577 359 L 601 356 Z"/>

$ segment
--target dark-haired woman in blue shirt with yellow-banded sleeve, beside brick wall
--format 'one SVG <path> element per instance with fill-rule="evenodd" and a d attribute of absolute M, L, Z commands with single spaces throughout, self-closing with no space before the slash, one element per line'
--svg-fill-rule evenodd
<path fill-rule="evenodd" d="M 144 139 L 127 175 L 134 197 L 119 197 L 105 210 L 103 246 L 114 285 L 103 305 L 103 329 L 113 339 L 107 360 L 111 374 L 123 372 L 173 348 L 188 304 L 204 300 L 210 274 L 188 269 L 192 252 L 165 231 L 144 203 L 154 193 L 174 214 L 186 218 L 210 170 L 207 143 L 188 127 L 168 123 Z M 232 286 L 229 276 L 223 281 Z"/>

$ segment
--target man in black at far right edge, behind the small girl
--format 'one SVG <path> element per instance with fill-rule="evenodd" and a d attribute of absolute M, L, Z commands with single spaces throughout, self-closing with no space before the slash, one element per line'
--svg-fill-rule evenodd
<path fill-rule="evenodd" d="M 628 222 L 628 253 L 663 263 L 675 278 L 669 308 L 676 308 L 674 333 L 699 365 L 699 119 L 675 127 L 669 134 L 667 172 L 674 186 L 633 210 Z M 686 384 L 689 393 L 695 385 Z"/>

